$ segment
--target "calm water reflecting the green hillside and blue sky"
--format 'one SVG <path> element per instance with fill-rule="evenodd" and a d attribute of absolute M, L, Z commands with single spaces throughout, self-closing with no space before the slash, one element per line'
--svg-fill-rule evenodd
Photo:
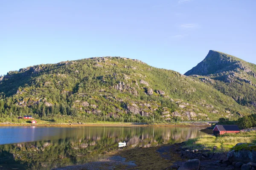
<path fill-rule="evenodd" d="M 127 147 L 153 147 L 203 136 L 201 127 L 0 127 L 0 170 L 52 169 L 98 161 Z M 126 148 L 127 149 L 127 148 Z"/>

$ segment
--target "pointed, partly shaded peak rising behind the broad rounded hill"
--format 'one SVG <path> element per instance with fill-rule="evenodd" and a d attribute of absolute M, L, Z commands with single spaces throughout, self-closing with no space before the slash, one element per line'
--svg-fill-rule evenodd
<path fill-rule="evenodd" d="M 185 73 L 201 80 L 240 105 L 256 107 L 256 65 L 210 50 L 205 59 Z"/>

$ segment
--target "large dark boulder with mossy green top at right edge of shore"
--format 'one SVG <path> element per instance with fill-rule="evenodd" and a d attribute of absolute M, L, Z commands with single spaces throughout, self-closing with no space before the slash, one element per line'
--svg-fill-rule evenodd
<path fill-rule="evenodd" d="M 238 143 L 233 148 L 236 149 L 237 147 L 246 146 L 244 149 L 241 150 L 232 150 L 227 153 L 227 158 L 230 162 L 256 162 L 256 150 L 248 150 L 246 148 L 256 148 L 256 144 L 247 144 L 247 143 Z"/>

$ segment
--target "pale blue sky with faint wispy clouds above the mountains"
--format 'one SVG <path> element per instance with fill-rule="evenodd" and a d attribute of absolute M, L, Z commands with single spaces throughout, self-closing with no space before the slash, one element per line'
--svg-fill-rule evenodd
<path fill-rule="evenodd" d="M 222 51 L 256 63 L 256 0 L 1 0 L 0 74 L 88 57 L 184 74 Z"/>

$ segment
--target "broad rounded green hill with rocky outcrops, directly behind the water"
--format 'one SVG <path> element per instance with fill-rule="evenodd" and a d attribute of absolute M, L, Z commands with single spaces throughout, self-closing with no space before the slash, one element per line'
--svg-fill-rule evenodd
<path fill-rule="evenodd" d="M 199 65 L 201 70 L 222 74 L 209 59 L 209 69 Z M 153 114 L 155 122 L 218 120 L 253 113 L 206 81 L 217 82 L 121 57 L 34 65 L 0 77 L 0 121 L 15 122 L 20 113 L 52 122 L 152 122 Z"/>

